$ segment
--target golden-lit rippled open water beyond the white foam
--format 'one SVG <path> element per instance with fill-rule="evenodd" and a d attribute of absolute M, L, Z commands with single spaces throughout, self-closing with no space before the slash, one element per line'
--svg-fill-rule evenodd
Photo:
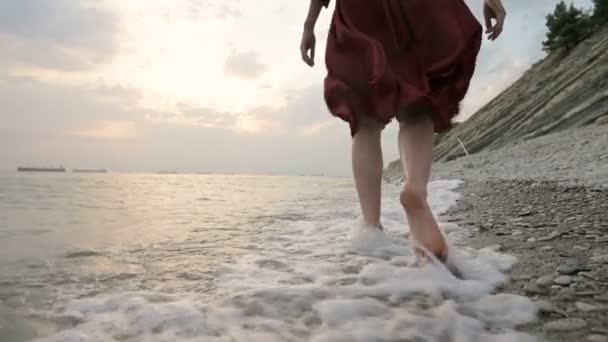
<path fill-rule="evenodd" d="M 265 226 L 353 216 L 354 196 L 322 177 L 0 174 L 0 323 L 118 288 L 212 293 Z"/>

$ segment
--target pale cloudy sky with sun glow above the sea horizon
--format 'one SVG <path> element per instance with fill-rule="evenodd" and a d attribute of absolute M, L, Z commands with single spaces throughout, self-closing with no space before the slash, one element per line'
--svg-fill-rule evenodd
<path fill-rule="evenodd" d="M 344 0 L 343 0 L 344 1 Z M 481 21 L 482 0 L 466 0 Z M 466 120 L 544 56 L 557 0 L 504 0 L 484 40 Z M 590 0 L 577 0 L 591 7 Z M 0 170 L 350 175 L 348 125 L 323 101 L 324 44 L 300 59 L 308 1 L 0 1 Z M 397 128 L 383 135 L 398 158 Z"/>

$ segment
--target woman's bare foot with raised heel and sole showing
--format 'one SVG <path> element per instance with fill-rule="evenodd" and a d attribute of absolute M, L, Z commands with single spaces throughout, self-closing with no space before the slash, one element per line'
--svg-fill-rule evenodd
<path fill-rule="evenodd" d="M 447 245 L 426 201 L 426 193 L 406 186 L 401 192 L 400 200 L 407 215 L 412 238 L 439 260 L 444 261 Z"/>

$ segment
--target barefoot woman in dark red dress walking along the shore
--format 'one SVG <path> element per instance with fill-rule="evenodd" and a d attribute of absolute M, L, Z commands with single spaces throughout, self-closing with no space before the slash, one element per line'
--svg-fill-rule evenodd
<path fill-rule="evenodd" d="M 300 50 L 314 65 L 314 26 L 329 0 L 311 0 Z M 502 32 L 500 0 L 484 0 L 486 34 Z M 363 220 L 380 224 L 380 133 L 396 118 L 406 182 L 400 201 L 417 255 L 447 258 L 427 203 L 433 133 L 451 127 L 475 69 L 482 28 L 464 0 L 336 0 L 325 63 L 325 102 L 347 121 Z M 425 254 L 425 252 L 429 254 Z"/>

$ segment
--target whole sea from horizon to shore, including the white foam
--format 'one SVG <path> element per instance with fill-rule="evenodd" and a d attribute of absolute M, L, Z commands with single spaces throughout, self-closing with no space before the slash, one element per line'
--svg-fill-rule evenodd
<path fill-rule="evenodd" d="M 383 185 L 384 232 L 360 224 L 348 178 L 0 174 L 2 341 L 535 341 L 515 259 L 466 246 L 463 278 L 417 267 Z"/>

